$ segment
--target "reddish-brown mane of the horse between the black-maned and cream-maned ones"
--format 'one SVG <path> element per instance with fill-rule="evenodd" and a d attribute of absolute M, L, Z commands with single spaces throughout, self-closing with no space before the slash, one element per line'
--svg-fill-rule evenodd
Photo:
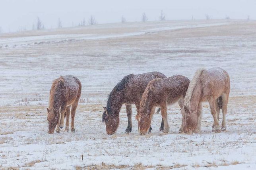
<path fill-rule="evenodd" d="M 154 82 L 156 82 L 156 81 L 158 81 L 158 80 L 161 80 L 162 78 L 155 78 L 155 79 L 153 79 L 153 80 L 151 80 L 150 82 L 149 82 L 149 84 L 147 85 L 147 87 L 146 87 L 146 89 L 145 89 L 145 91 L 144 91 L 144 93 L 143 93 L 143 95 L 142 95 L 142 99 L 141 99 L 141 101 L 140 101 L 140 111 L 139 111 L 139 113 L 137 113 L 137 115 L 136 115 L 136 119 L 138 120 L 138 119 L 140 119 L 140 117 L 141 117 L 141 111 L 142 111 L 142 109 L 145 109 L 146 108 L 146 103 L 147 103 L 147 99 L 148 99 L 148 94 L 149 94 L 149 92 L 151 92 L 152 90 L 153 90 L 153 86 L 154 86 Z"/>

